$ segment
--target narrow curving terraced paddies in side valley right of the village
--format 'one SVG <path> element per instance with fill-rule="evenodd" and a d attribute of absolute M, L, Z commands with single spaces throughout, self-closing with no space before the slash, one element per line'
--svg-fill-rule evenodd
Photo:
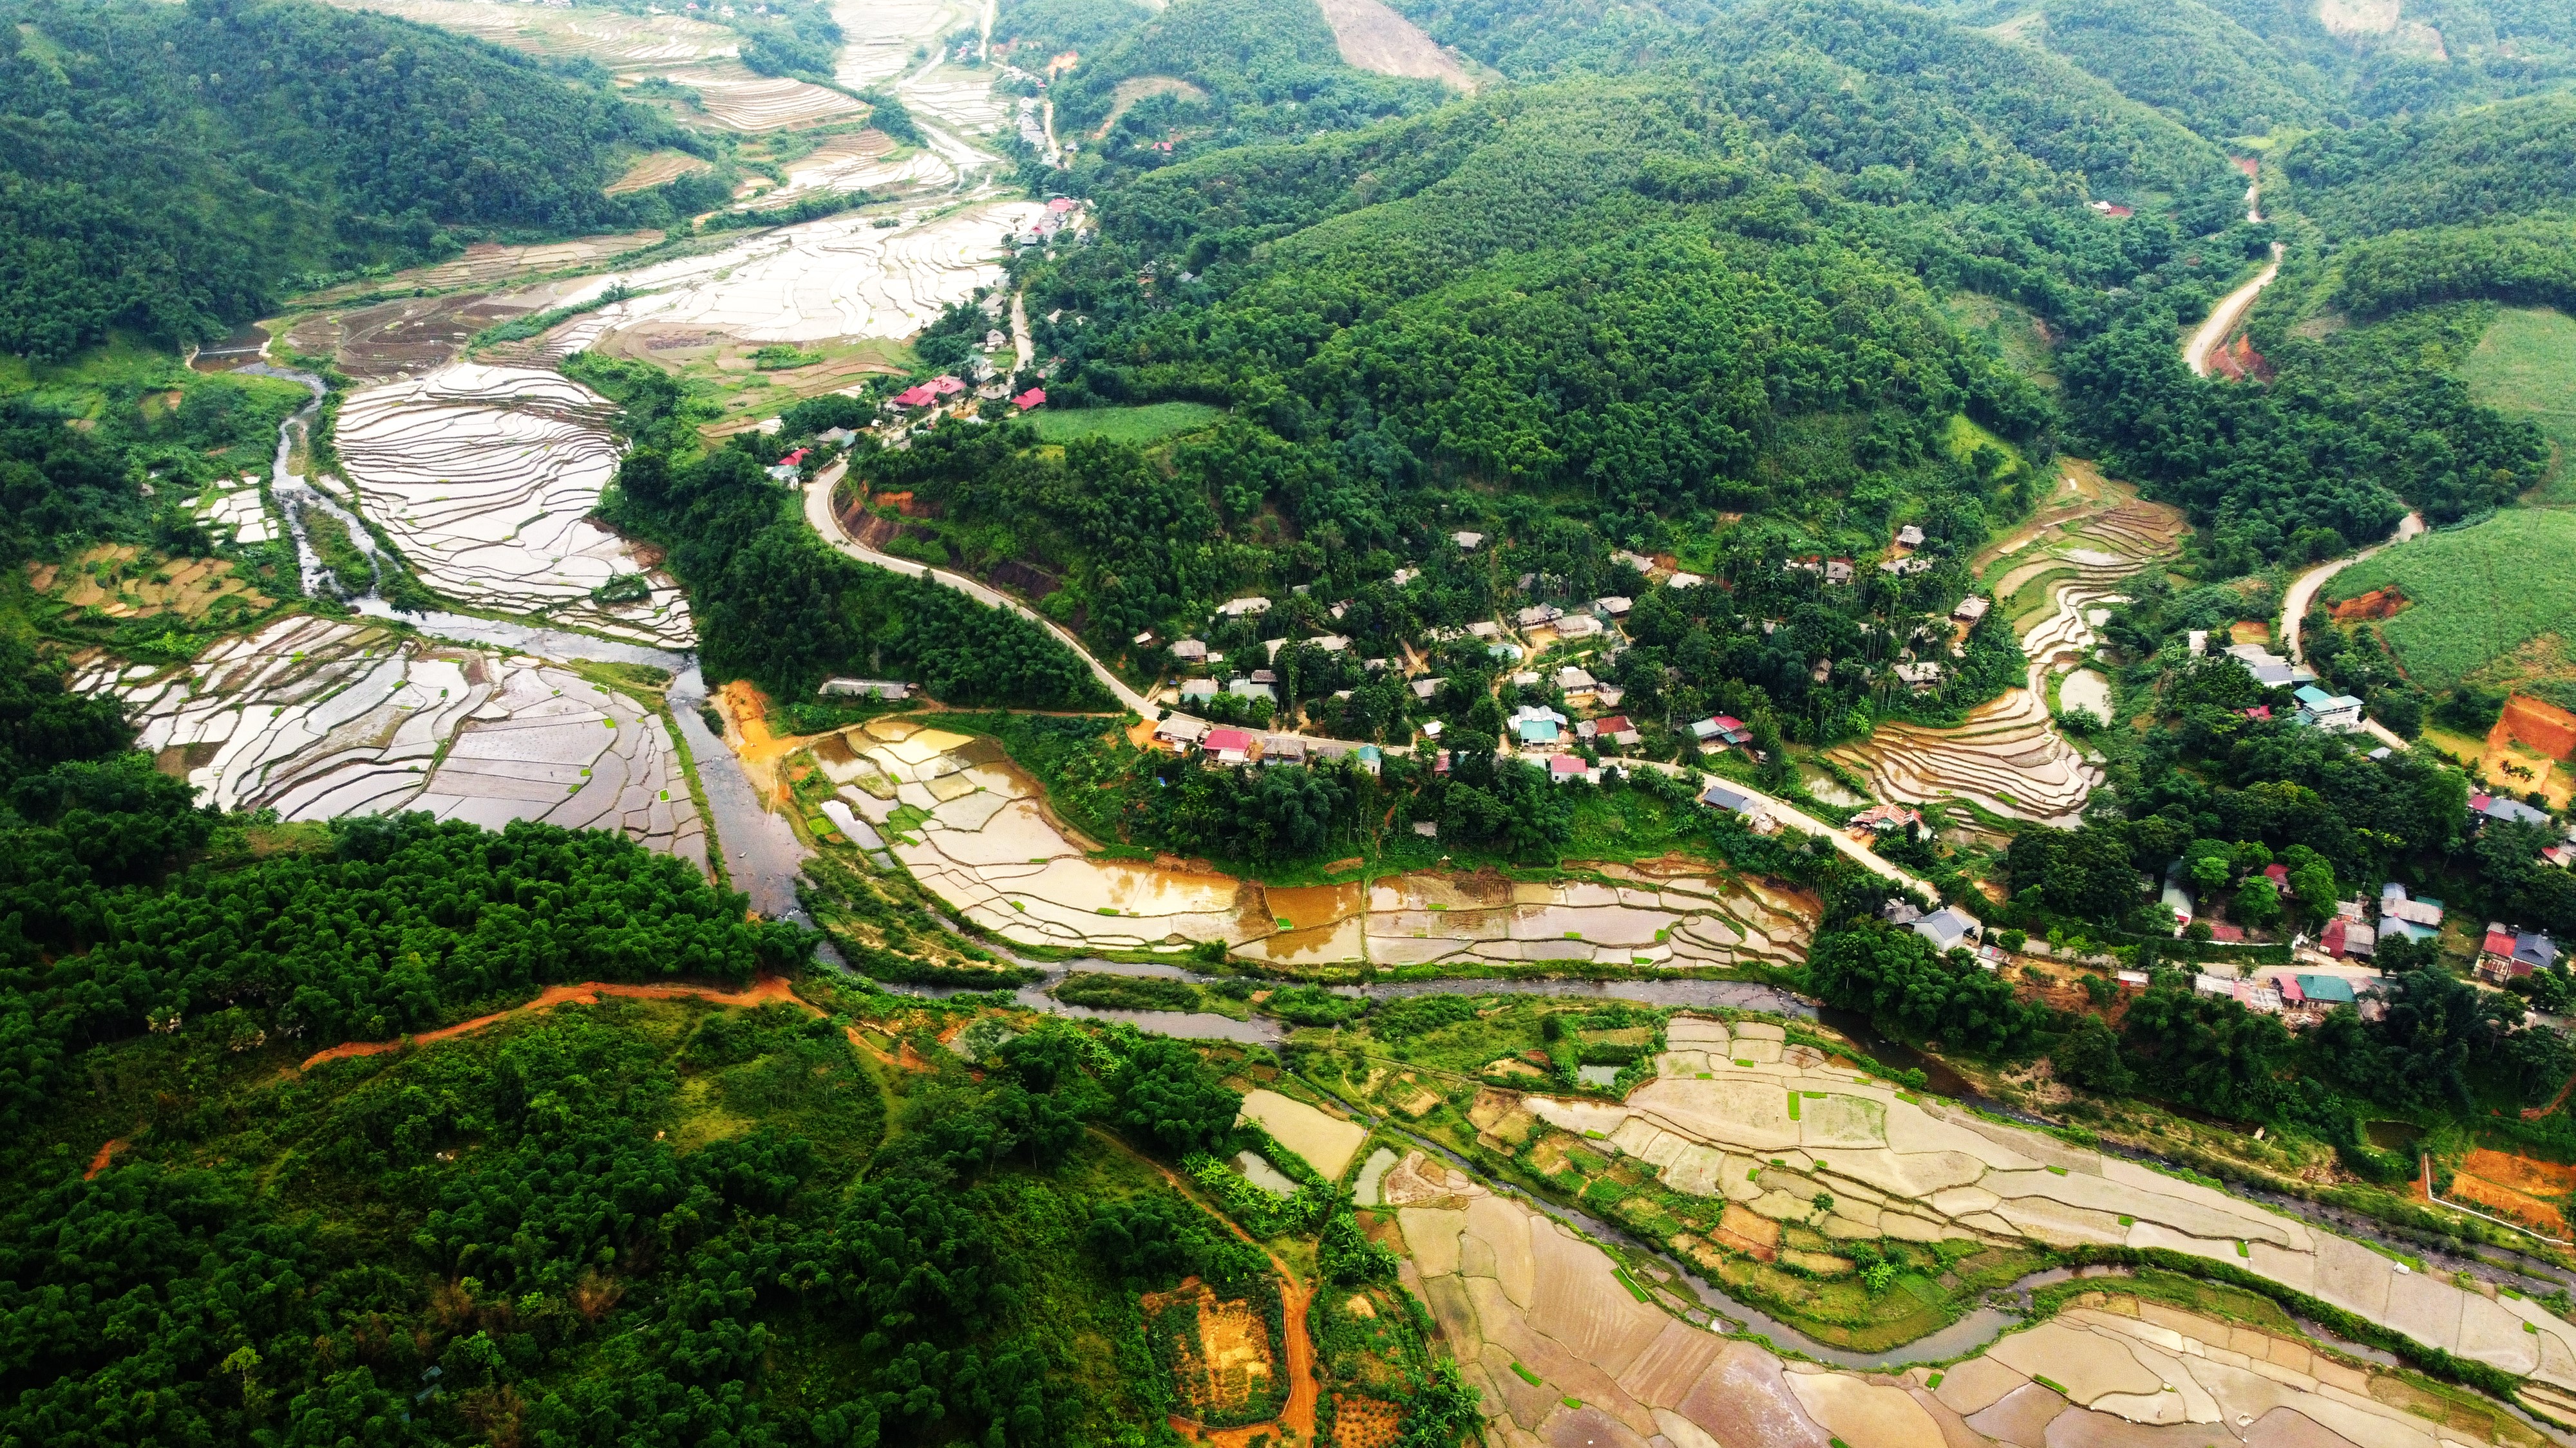
<path fill-rule="evenodd" d="M 1832 750 L 1870 781 L 1878 799 L 1927 804 L 1963 799 L 2004 819 L 2069 822 L 2102 783 L 2048 716 L 2048 675 L 2081 665 L 2099 644 L 2102 608 L 2120 580 L 2174 551 L 2182 515 L 2161 502 L 2102 497 L 2076 505 L 2009 541 L 1989 564 L 1991 595 L 2025 621 L 2025 688 L 2004 691 L 1950 729 L 1880 724 L 1868 739 Z M 2081 688 L 2081 685 L 2079 685 Z"/>

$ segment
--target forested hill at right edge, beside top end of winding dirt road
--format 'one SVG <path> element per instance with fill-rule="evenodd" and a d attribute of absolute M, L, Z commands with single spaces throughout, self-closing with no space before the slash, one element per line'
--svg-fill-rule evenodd
<path fill-rule="evenodd" d="M 2527 219 L 2576 204 L 2576 95 L 2318 129 L 2282 155 L 2287 201 L 2329 237 Z"/>

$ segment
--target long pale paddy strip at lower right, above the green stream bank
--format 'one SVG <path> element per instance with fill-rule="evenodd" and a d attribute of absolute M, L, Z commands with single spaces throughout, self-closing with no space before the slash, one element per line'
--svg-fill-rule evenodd
<path fill-rule="evenodd" d="M 2218 1188 L 1914 1098 L 1775 1033 L 1682 1015 L 1667 1025 L 1656 1080 L 1625 1103 L 1528 1095 L 1520 1108 L 1651 1165 L 1677 1193 L 1723 1196 L 1728 1216 L 1741 1208 L 1855 1242 L 2164 1247 L 2576 1389 L 2576 1327 L 2537 1304 L 2403 1273 Z"/>

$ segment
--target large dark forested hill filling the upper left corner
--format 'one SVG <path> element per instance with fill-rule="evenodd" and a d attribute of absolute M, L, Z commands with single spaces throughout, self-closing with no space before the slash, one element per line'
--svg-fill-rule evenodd
<path fill-rule="evenodd" d="M 428 260 L 453 232 L 667 219 L 611 198 L 665 119 L 536 59 L 307 0 L 10 0 L 0 52 L 0 350 L 108 327 L 216 338 L 307 273 Z"/>

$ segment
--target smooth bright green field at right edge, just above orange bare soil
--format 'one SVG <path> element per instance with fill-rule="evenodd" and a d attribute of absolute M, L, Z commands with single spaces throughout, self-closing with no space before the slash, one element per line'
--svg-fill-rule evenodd
<path fill-rule="evenodd" d="M 2424 688 L 2450 688 L 2532 639 L 2576 639 L 2576 515 L 2512 510 L 2352 564 L 2329 600 L 2396 587 L 2388 647 Z"/>

